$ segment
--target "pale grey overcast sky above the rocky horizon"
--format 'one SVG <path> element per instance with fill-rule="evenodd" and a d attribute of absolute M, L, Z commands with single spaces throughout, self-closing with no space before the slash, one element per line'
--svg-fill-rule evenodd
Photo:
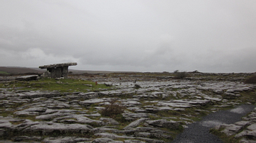
<path fill-rule="evenodd" d="M 256 71 L 255 0 L 0 0 L 0 66 Z"/>

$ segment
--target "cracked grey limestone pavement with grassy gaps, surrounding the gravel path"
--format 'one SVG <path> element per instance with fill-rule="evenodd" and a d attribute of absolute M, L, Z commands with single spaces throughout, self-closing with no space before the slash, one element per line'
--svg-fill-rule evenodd
<path fill-rule="evenodd" d="M 0 142 L 171 142 L 203 115 L 241 103 L 255 104 L 256 86 L 242 82 L 247 76 L 70 76 L 111 86 L 71 93 L 24 91 L 2 84 Z M 124 113 L 103 116 L 102 110 L 112 104 L 124 107 Z M 216 130 L 242 138 L 240 142 L 256 142 L 255 127 L 254 110 L 243 121 Z"/>

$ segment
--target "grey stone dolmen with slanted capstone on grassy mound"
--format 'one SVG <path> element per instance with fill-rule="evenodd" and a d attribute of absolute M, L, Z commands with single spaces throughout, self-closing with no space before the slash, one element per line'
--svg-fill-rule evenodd
<path fill-rule="evenodd" d="M 68 78 L 68 66 L 78 65 L 76 62 L 67 62 L 61 64 L 48 64 L 44 66 L 40 66 L 40 69 L 47 69 L 50 72 L 51 78 Z"/>

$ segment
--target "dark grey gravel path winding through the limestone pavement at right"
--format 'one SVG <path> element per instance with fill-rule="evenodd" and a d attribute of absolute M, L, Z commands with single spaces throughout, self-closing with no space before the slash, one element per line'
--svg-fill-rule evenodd
<path fill-rule="evenodd" d="M 217 136 L 209 133 L 210 128 L 221 123 L 232 124 L 238 122 L 253 108 L 255 108 L 255 105 L 239 105 L 230 110 L 211 113 L 203 120 L 188 125 L 188 128 L 174 139 L 174 143 L 223 143 Z"/>

